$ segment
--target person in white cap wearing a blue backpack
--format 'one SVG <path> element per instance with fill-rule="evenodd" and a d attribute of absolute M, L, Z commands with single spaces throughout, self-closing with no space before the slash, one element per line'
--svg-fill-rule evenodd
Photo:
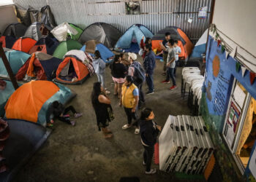
<path fill-rule="evenodd" d="M 128 75 L 132 76 L 134 79 L 134 84 L 138 87 L 139 90 L 139 103 L 138 107 L 140 108 L 145 103 L 144 93 L 142 90 L 143 82 L 145 81 L 145 71 L 140 65 L 140 62 L 137 60 L 137 55 L 135 53 L 128 53 L 130 66 L 128 69 Z"/>

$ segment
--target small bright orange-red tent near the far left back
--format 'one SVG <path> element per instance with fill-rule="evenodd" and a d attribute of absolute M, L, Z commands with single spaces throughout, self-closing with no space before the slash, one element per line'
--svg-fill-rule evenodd
<path fill-rule="evenodd" d="M 12 50 L 18 50 L 22 52 L 29 53 L 29 50 L 36 44 L 37 41 L 30 38 L 20 37 L 12 46 Z"/>

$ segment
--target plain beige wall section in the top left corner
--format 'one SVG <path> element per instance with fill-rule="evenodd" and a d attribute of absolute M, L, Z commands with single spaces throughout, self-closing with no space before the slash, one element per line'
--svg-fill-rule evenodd
<path fill-rule="evenodd" d="M 4 33 L 10 23 L 18 23 L 13 5 L 0 6 L 0 32 Z"/>

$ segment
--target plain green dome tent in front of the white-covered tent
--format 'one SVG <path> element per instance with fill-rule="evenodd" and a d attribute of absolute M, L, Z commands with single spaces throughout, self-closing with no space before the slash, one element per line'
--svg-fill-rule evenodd
<path fill-rule="evenodd" d="M 61 41 L 59 46 L 53 53 L 53 57 L 63 59 L 64 55 L 69 52 L 69 50 L 80 50 L 83 47 L 79 41 L 68 40 L 68 41 Z"/>

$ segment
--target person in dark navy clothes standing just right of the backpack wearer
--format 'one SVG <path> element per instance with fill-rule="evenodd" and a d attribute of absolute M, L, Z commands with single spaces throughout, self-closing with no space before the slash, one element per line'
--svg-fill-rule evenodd
<path fill-rule="evenodd" d="M 146 83 L 148 84 L 148 92 L 146 95 L 150 95 L 154 93 L 154 68 L 156 68 L 156 56 L 152 51 L 152 47 L 150 44 L 146 44 L 146 57 L 144 59 L 143 67 L 146 71 Z"/>

